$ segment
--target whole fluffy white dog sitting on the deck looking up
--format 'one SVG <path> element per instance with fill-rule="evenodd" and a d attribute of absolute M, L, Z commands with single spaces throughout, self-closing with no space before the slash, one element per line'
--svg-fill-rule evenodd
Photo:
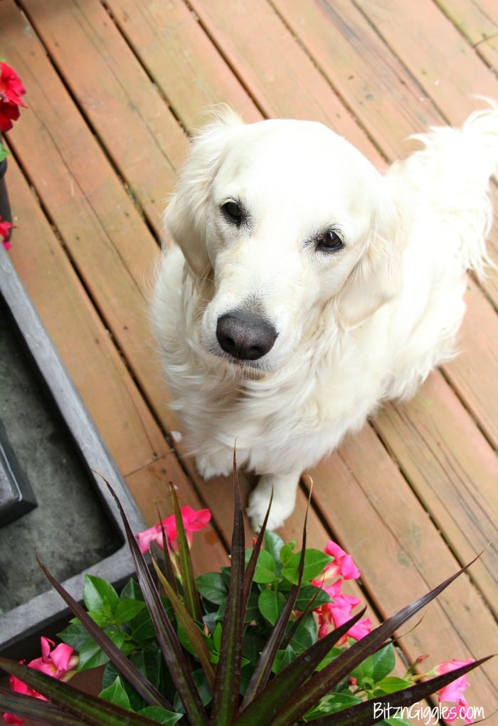
<path fill-rule="evenodd" d="M 204 478 L 260 475 L 248 514 L 269 528 L 299 477 L 385 399 L 454 354 L 465 270 L 481 272 L 498 109 L 382 176 L 319 123 L 200 132 L 166 210 L 152 320 L 172 406 Z"/>

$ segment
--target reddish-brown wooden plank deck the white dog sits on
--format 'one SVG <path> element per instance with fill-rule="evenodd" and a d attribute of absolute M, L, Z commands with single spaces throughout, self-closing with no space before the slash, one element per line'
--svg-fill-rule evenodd
<path fill-rule="evenodd" d="M 28 89 L 8 134 L 12 260 L 145 518 L 168 510 L 174 481 L 211 508 L 195 552 L 199 571 L 216 568 L 231 483 L 203 484 L 174 444 L 147 322 L 184 131 L 228 102 L 246 121 L 323 121 L 385 166 L 409 134 L 461 123 L 472 94 L 498 99 L 497 1 L 0 0 L 0 57 Z M 498 262 L 498 225 L 490 249 Z M 354 555 L 372 619 L 486 548 L 404 635 L 409 661 L 498 650 L 497 303 L 497 272 L 469 280 L 462 354 L 311 472 L 309 544 Z M 491 716 L 498 660 L 469 680 Z"/>

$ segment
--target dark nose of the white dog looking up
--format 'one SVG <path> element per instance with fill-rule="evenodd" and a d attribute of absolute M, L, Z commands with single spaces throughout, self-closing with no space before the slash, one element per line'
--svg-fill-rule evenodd
<path fill-rule="evenodd" d="M 264 318 L 250 313 L 221 315 L 216 338 L 225 351 L 241 361 L 256 361 L 272 350 L 277 330 Z"/>

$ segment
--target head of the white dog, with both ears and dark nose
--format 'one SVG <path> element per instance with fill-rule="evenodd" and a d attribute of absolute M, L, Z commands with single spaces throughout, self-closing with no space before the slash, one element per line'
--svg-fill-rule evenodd
<path fill-rule="evenodd" d="M 166 231 L 211 289 L 200 343 L 275 370 L 324 319 L 361 325 L 399 290 L 399 221 L 385 179 L 322 124 L 219 115 L 192 143 Z"/>

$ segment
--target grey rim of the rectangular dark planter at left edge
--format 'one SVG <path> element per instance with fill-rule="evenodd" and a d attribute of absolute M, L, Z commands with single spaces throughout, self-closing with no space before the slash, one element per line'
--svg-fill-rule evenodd
<path fill-rule="evenodd" d="M 81 600 L 85 574 L 105 578 L 113 584 L 121 583 L 134 574 L 123 523 L 113 496 L 102 477 L 109 482 L 120 499 L 132 531 L 141 531 L 146 525 L 126 482 L 83 404 L 68 370 L 62 363 L 52 340 L 38 317 L 28 293 L 17 277 L 12 261 L 3 245 L 0 245 L 0 294 L 7 303 L 21 337 L 73 436 L 78 452 L 86 462 L 89 478 L 93 480 L 96 494 L 102 499 L 108 517 L 113 521 L 113 525 L 123 539 L 123 544 L 113 555 L 86 568 L 81 574 L 76 574 L 62 582 L 65 589 L 76 600 Z M 102 477 L 98 476 L 97 472 Z M 37 633 L 43 635 L 45 627 L 51 622 L 62 620 L 69 613 L 67 605 L 54 590 L 43 592 L 41 595 L 33 597 L 28 603 L 1 613 L 0 653 L 4 653 L 21 640 L 27 640 Z"/>

